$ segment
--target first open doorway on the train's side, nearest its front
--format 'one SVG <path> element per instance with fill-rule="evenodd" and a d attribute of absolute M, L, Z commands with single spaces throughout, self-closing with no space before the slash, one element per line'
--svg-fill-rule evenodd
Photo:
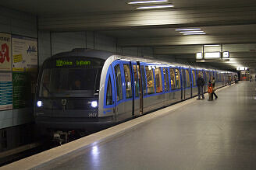
<path fill-rule="evenodd" d="M 133 75 L 133 116 L 138 116 L 140 115 L 140 68 L 135 61 L 132 61 L 131 65 Z"/>

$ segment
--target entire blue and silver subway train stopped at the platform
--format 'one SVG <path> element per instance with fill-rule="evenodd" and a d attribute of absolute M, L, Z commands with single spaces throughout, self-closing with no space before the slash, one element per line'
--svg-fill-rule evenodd
<path fill-rule="evenodd" d="M 101 50 L 55 54 L 39 71 L 34 116 L 42 134 L 67 137 L 112 126 L 197 95 L 197 75 L 217 88 L 236 73 Z M 205 83 L 204 92 L 207 91 Z"/>

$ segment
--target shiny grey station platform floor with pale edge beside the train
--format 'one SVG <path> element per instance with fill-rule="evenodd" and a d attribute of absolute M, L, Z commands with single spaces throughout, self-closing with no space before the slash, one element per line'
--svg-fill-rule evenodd
<path fill-rule="evenodd" d="M 256 83 L 188 99 L 1 169 L 255 169 Z"/>

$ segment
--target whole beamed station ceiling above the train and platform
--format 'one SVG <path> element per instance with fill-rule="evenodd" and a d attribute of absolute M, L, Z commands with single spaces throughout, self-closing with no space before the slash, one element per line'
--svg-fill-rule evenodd
<path fill-rule="evenodd" d="M 195 61 L 205 44 L 222 44 L 229 61 L 219 68 L 256 68 L 254 0 L 169 0 L 174 8 L 136 9 L 131 0 L 9 0 L 4 6 L 38 16 L 39 29 L 56 32 L 94 30 L 114 36 L 121 47 L 152 47 L 156 57 Z M 200 28 L 205 35 L 184 36 L 175 29 Z"/>

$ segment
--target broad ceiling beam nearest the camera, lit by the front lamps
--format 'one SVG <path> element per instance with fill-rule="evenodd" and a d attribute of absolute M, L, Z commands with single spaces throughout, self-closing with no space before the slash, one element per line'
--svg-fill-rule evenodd
<path fill-rule="evenodd" d="M 256 6 L 62 14 L 40 16 L 38 29 L 81 31 L 233 26 L 256 23 L 255 14 Z"/>

